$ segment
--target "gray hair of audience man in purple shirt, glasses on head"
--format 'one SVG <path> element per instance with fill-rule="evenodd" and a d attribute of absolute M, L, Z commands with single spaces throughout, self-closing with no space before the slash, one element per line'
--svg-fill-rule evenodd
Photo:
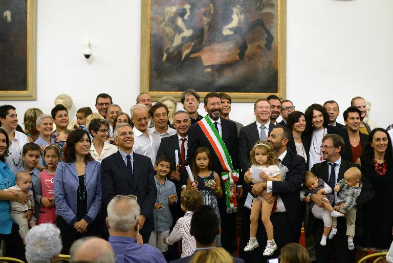
<path fill-rule="evenodd" d="M 135 228 L 140 214 L 140 207 L 136 200 L 128 196 L 118 196 L 109 202 L 108 225 L 114 231 L 129 232 Z"/>

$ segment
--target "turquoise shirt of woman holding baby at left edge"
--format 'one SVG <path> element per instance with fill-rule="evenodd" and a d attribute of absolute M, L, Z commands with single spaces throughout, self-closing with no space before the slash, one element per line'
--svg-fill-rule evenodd
<path fill-rule="evenodd" d="M 15 176 L 7 164 L 0 161 L 0 191 L 14 186 Z M 10 214 L 10 201 L 0 200 L 0 234 L 11 234 L 12 219 Z"/>

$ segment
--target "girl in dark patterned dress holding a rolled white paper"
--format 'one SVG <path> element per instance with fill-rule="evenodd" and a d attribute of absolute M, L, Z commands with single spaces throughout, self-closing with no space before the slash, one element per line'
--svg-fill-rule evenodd
<path fill-rule="evenodd" d="M 220 211 L 217 205 L 217 198 L 223 197 L 223 190 L 219 175 L 211 170 L 212 158 L 211 152 L 206 147 L 198 148 L 193 157 L 192 175 L 194 181 L 187 179 L 187 189 L 199 190 L 203 196 L 203 204 L 214 208 L 215 214 L 219 218 L 219 226 L 221 227 Z M 221 233 L 215 238 L 215 245 L 221 246 Z"/>

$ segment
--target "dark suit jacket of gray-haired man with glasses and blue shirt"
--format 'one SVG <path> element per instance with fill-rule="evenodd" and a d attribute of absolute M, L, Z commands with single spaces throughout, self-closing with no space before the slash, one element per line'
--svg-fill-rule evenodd
<path fill-rule="evenodd" d="M 134 152 L 133 177 L 128 174 L 127 167 L 117 151 L 102 160 L 102 208 L 106 215 L 108 203 L 117 194 L 134 194 L 138 196 L 141 214 L 146 216 L 146 222 L 141 233 L 154 230 L 153 209 L 157 198 L 157 188 L 154 180 L 154 170 L 150 158 Z"/>

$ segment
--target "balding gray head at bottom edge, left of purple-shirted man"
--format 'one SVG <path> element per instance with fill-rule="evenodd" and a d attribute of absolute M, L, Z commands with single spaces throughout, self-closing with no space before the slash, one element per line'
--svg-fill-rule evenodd
<path fill-rule="evenodd" d="M 81 250 L 85 253 L 78 258 L 77 254 Z M 80 255 L 79 255 L 80 256 Z M 87 261 L 91 263 L 115 263 L 115 253 L 111 245 L 100 237 L 88 236 L 77 239 L 70 249 L 70 261 Z"/>

